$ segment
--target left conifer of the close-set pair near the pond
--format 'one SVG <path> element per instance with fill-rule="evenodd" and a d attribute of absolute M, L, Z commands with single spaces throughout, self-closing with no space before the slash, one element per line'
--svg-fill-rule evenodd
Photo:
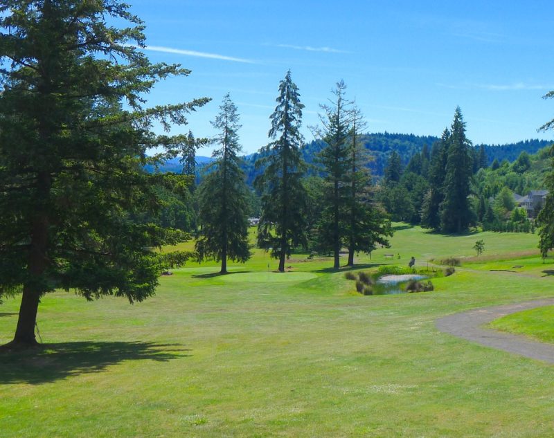
<path fill-rule="evenodd" d="M 331 105 L 321 105 L 323 125 L 317 131 L 325 142 L 318 160 L 323 165 L 325 183 L 328 190 L 323 199 L 323 211 L 317 228 L 321 246 L 332 248 L 333 267 L 340 268 L 340 250 L 344 235 L 344 220 L 350 195 L 349 174 L 352 167 L 348 135 L 350 134 L 350 102 L 345 100 L 346 85 L 337 82 L 332 91 L 334 101 Z"/>

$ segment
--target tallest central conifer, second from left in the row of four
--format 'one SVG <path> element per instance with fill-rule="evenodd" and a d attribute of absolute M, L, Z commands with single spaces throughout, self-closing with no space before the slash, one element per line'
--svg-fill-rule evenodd
<path fill-rule="evenodd" d="M 300 153 L 304 105 L 290 71 L 279 84 L 276 102 L 268 134 L 274 141 L 262 149 L 265 154 L 256 162 L 256 167 L 265 167 L 255 181 L 262 192 L 258 246 L 271 248 L 271 255 L 279 259 L 279 272 L 285 272 L 285 257 L 291 249 L 307 246 L 307 193 L 302 184 L 306 165 Z"/>

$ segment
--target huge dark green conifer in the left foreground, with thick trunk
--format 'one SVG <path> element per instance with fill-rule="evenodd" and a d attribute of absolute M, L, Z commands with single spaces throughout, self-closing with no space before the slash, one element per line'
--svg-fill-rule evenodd
<path fill-rule="evenodd" d="M 179 179 L 142 170 L 148 148 L 177 154 L 185 140 L 154 135 L 154 121 L 185 124 L 208 99 L 145 108 L 157 80 L 190 72 L 150 64 L 143 24 L 118 0 L 3 1 L 0 28 L 0 296 L 22 293 L 19 347 L 36 343 L 46 293 L 141 301 L 184 261 L 145 250 L 179 236 L 134 218 L 156 215 L 156 183 Z"/>

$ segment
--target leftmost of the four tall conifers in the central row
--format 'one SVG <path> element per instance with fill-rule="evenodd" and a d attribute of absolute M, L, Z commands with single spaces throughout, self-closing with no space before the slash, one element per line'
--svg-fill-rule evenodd
<path fill-rule="evenodd" d="M 244 263 L 250 258 L 248 189 L 238 156 L 239 116 L 229 93 L 212 125 L 220 131 L 214 143 L 221 147 L 213 152 L 215 161 L 197 190 L 202 230 L 196 250 L 200 261 L 221 261 L 220 273 L 226 274 L 227 259 Z"/>

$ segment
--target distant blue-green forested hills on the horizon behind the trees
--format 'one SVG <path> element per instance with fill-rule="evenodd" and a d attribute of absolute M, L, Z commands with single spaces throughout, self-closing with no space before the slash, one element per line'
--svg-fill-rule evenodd
<path fill-rule="evenodd" d="M 436 136 L 416 136 L 414 134 L 392 134 L 390 132 L 382 132 L 375 134 L 366 134 L 362 136 L 361 140 L 364 142 L 366 148 L 370 151 L 370 155 L 373 156 L 373 161 L 370 163 L 370 168 L 373 176 L 379 178 L 383 175 L 384 167 L 386 166 L 388 156 L 393 150 L 400 154 L 402 158 L 402 164 L 406 165 L 411 157 L 422 150 L 424 145 L 431 147 L 434 142 L 438 140 Z M 510 143 L 508 145 L 483 145 L 485 147 L 485 153 L 489 165 L 497 159 L 499 162 L 508 160 L 515 161 L 521 152 L 525 151 L 528 154 L 535 154 L 539 149 L 551 145 L 551 141 L 548 140 L 525 140 L 517 143 Z M 312 140 L 302 147 L 302 154 L 304 160 L 307 163 L 314 163 L 316 156 L 323 147 L 323 142 L 319 140 Z M 481 145 L 476 145 L 476 149 L 479 149 Z M 260 154 L 250 154 L 244 157 L 244 172 L 247 174 L 247 183 L 251 185 L 253 179 L 258 174 L 254 167 L 256 159 L 260 157 Z M 197 163 L 199 167 L 211 161 L 208 157 L 197 157 Z M 181 172 L 181 164 L 179 158 L 174 158 L 166 165 L 160 168 L 161 172 Z M 152 172 L 152 169 L 148 168 L 148 172 Z"/>

